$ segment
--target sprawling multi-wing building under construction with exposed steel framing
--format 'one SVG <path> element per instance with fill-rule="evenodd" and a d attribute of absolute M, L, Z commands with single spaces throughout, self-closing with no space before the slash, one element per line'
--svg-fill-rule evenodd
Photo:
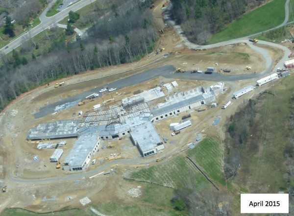
<path fill-rule="evenodd" d="M 60 120 L 39 124 L 29 130 L 27 140 L 77 137 L 63 164 L 66 170 L 83 170 L 98 151 L 100 140 L 129 135 L 143 157 L 156 154 L 164 144 L 151 122 L 193 110 L 216 100 L 223 83 L 199 87 L 165 98 L 166 102 L 151 107 L 151 101 L 164 96 L 160 88 L 107 104 L 85 113 L 81 120 Z"/>

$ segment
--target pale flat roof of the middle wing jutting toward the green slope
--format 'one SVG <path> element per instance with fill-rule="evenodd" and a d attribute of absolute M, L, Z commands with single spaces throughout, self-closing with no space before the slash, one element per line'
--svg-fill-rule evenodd
<path fill-rule="evenodd" d="M 131 137 L 138 143 L 142 152 L 154 149 L 162 141 L 150 121 L 131 128 Z"/>

